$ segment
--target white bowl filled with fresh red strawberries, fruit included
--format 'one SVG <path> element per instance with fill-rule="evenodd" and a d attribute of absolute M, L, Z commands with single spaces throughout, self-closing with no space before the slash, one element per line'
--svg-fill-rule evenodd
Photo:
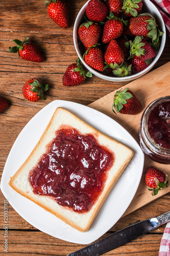
<path fill-rule="evenodd" d="M 166 31 L 150 0 L 89 0 L 74 25 L 74 45 L 83 66 L 108 81 L 130 81 L 158 61 Z"/>

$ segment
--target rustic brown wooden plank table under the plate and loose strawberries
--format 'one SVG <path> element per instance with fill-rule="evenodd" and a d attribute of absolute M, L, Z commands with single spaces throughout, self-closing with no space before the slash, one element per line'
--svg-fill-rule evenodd
<path fill-rule="evenodd" d="M 0 115 L 0 168 L 1 176 L 10 149 L 23 127 L 45 105 L 55 99 L 69 100 L 84 105 L 105 96 L 124 86 L 126 82 L 109 82 L 93 76 L 84 84 L 67 88 L 62 84 L 62 76 L 69 64 L 75 62 L 77 53 L 74 47 L 72 31 L 80 8 L 86 3 L 81 1 L 66 1 L 69 6 L 70 26 L 64 30 L 59 28 L 48 17 L 43 8 L 43 1 L 1 1 L 0 4 L 0 96 L 10 101 L 9 108 Z M 44 56 L 44 62 L 33 63 L 17 58 L 17 54 L 9 52 L 14 46 L 13 39 L 23 40 L 29 37 L 39 47 Z M 169 61 L 169 38 L 166 39 L 164 51 L 154 69 Z M 50 85 L 46 101 L 27 101 L 22 96 L 22 86 L 30 78 L 41 78 Z M 1 193 L 1 248 L 5 253 L 4 228 L 4 195 Z M 142 221 L 170 210 L 170 194 L 143 206 L 131 214 L 121 218 L 103 237 L 108 236 L 131 223 Z M 116 248 L 105 255 L 140 255 L 157 256 L 165 225 L 145 234 L 144 236 Z M 9 255 L 67 255 L 84 247 L 49 236 L 27 221 L 8 205 L 8 253 Z"/>

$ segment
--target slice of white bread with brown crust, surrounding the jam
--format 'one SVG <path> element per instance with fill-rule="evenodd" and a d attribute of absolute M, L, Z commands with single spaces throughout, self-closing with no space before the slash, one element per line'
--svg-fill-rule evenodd
<path fill-rule="evenodd" d="M 108 170 L 103 191 L 101 191 L 98 200 L 89 211 L 84 213 L 79 213 L 68 207 L 61 206 L 50 196 L 35 194 L 29 181 L 31 170 L 38 164 L 42 155 L 47 152 L 47 148 L 49 148 L 50 143 L 52 143 L 56 137 L 56 131 L 60 130 L 63 125 L 71 126 L 73 129 L 78 130 L 82 135 L 93 135 L 101 146 L 108 148 L 114 155 L 114 161 Z M 9 185 L 19 194 L 51 212 L 51 214 L 55 215 L 68 225 L 84 232 L 91 226 L 111 189 L 129 164 L 133 154 L 133 151 L 129 147 L 97 131 L 68 110 L 57 108 L 37 145 L 34 147 L 27 160 L 17 170 L 16 174 L 11 178 Z"/>

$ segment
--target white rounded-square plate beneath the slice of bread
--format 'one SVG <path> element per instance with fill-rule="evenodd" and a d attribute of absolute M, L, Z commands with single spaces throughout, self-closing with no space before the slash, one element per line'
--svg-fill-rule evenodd
<path fill-rule="evenodd" d="M 134 157 L 112 189 L 99 214 L 87 232 L 80 232 L 14 191 L 8 184 L 40 139 L 56 108 L 65 108 L 100 132 L 129 146 Z M 24 127 L 7 158 L 1 190 L 18 214 L 37 229 L 53 237 L 79 244 L 99 239 L 118 220 L 131 203 L 143 170 L 144 155 L 134 138 L 116 121 L 105 114 L 75 102 L 55 100 L 39 111 Z"/>

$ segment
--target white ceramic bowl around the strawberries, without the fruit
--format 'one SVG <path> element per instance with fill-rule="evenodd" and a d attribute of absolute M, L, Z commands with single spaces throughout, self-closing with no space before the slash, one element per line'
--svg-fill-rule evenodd
<path fill-rule="evenodd" d="M 78 36 L 78 28 L 82 24 L 83 17 L 85 16 L 86 8 L 87 8 L 89 1 L 87 1 L 87 3 L 81 8 L 80 12 L 78 13 L 77 18 L 75 20 L 74 31 L 73 31 L 75 49 L 76 49 L 76 52 L 77 52 L 79 58 L 81 59 L 83 65 L 92 74 L 94 74 L 102 79 L 105 79 L 108 81 L 114 81 L 114 82 L 131 81 L 136 78 L 139 78 L 140 76 L 146 74 L 149 70 L 151 70 L 153 68 L 153 66 L 156 64 L 156 62 L 158 61 L 160 55 L 162 54 L 162 51 L 163 51 L 164 45 L 165 45 L 165 40 L 166 40 L 166 30 L 165 30 L 165 25 L 164 25 L 162 16 L 161 16 L 160 12 L 158 11 L 158 9 L 154 6 L 154 4 L 152 2 L 150 2 L 150 0 L 143 0 L 142 12 L 143 13 L 144 12 L 151 13 L 154 16 L 154 18 L 156 19 L 156 22 L 159 25 L 159 29 L 162 32 L 164 32 L 164 34 L 161 36 L 161 45 L 160 45 L 159 51 L 156 53 L 156 56 L 152 59 L 152 63 L 148 66 L 148 68 L 144 69 L 143 71 L 141 71 L 137 74 L 131 75 L 131 76 L 126 76 L 126 77 L 112 77 L 112 76 L 103 75 L 100 72 L 92 69 L 89 65 L 87 65 L 87 63 L 84 61 L 84 59 L 82 57 L 83 56 L 83 52 L 81 51 L 82 42 L 80 41 L 80 38 Z"/>

